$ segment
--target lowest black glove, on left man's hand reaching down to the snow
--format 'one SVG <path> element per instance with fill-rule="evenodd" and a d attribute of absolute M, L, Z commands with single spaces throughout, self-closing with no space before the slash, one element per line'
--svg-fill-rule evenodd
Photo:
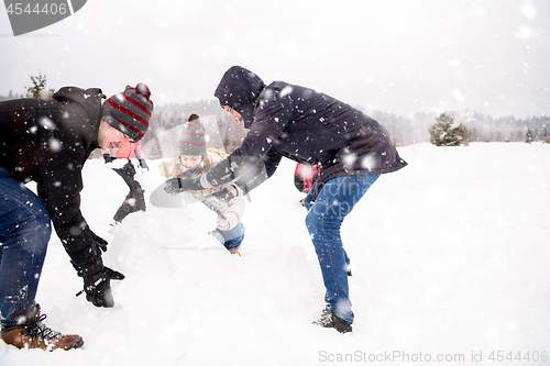
<path fill-rule="evenodd" d="M 103 270 L 84 277 L 84 290 L 76 296 L 86 292 L 86 300 L 94 306 L 98 308 L 112 308 L 114 306 L 114 300 L 112 298 L 110 280 L 122 280 L 124 278 L 124 275 L 120 271 L 103 267 Z"/>

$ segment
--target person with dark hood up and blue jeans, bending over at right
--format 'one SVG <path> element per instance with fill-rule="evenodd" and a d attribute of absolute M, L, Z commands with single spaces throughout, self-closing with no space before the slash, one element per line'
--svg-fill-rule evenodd
<path fill-rule="evenodd" d="M 382 174 L 406 163 L 385 129 L 360 110 L 316 90 L 274 81 L 233 66 L 215 96 L 235 121 L 250 129 L 242 145 L 200 179 L 169 179 L 178 193 L 234 180 L 244 192 L 271 177 L 282 157 L 320 165 L 305 200 L 310 233 L 327 289 L 326 309 L 315 324 L 352 331 L 346 254 L 340 237 L 343 219 Z"/>

